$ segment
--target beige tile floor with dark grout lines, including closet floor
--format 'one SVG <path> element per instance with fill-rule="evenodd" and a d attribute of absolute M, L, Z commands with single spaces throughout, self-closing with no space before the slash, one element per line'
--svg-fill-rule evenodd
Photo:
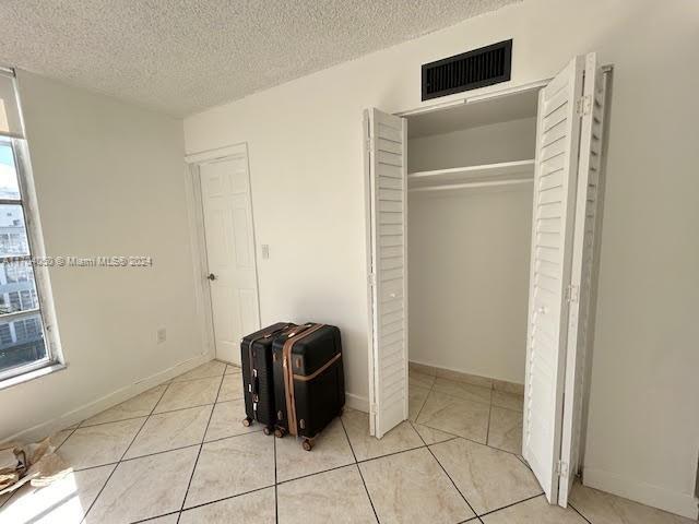
<path fill-rule="evenodd" d="M 240 383 L 212 361 L 59 432 L 73 473 L 0 497 L 0 522 L 692 522 L 582 486 L 568 509 L 548 505 L 517 454 L 511 393 L 412 372 L 410 420 L 379 441 L 346 409 L 307 453 L 242 427 Z"/>

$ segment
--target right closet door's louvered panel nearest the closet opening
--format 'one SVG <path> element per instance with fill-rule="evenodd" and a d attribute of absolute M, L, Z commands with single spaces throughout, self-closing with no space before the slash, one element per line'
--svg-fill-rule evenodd
<path fill-rule="evenodd" d="M 540 92 L 522 453 L 556 503 L 584 58 Z"/>

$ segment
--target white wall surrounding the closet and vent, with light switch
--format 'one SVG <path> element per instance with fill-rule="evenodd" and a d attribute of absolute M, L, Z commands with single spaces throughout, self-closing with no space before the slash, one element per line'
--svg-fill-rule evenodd
<path fill-rule="evenodd" d="M 514 39 L 511 84 L 597 50 L 615 72 L 585 479 L 696 515 L 698 24 L 692 0 L 525 0 L 187 118 L 190 153 L 249 143 L 262 321 L 340 325 L 366 397 L 362 109 L 419 106 L 422 63 L 493 41 Z"/>

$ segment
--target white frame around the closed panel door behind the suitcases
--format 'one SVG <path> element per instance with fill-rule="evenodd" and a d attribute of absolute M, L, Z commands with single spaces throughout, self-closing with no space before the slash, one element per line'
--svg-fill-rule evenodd
<path fill-rule="evenodd" d="M 261 319 L 260 306 L 260 273 L 258 271 L 258 242 L 254 228 L 254 205 L 252 204 L 252 179 L 250 177 L 250 157 L 247 142 L 206 150 L 185 156 L 187 199 L 187 215 L 189 222 L 190 246 L 192 247 L 192 266 L 194 273 L 194 306 L 200 319 L 199 330 L 203 352 L 211 358 L 216 358 L 216 343 L 214 336 L 213 305 L 211 288 L 206 279 L 209 260 L 206 258 L 206 237 L 204 228 L 204 211 L 201 195 L 200 166 L 213 160 L 228 158 L 245 158 L 250 188 L 250 214 L 252 215 L 252 262 L 254 266 L 254 291 L 258 299 L 258 319 Z"/>

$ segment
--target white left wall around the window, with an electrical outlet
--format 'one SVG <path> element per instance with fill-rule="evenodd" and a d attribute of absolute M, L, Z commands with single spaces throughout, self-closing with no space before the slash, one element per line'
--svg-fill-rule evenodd
<path fill-rule="evenodd" d="M 50 271 L 68 369 L 0 391 L 0 441 L 107 407 L 202 352 L 181 120 L 22 71 L 19 85 L 47 254 L 153 266 Z"/>

